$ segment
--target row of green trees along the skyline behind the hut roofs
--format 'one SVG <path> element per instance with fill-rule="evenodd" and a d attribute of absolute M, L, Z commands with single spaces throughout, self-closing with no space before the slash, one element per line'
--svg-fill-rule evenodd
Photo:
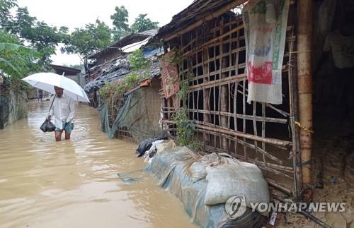
<path fill-rule="evenodd" d="M 11 12 L 15 12 L 14 15 Z M 153 22 L 146 16 L 147 14 L 140 14 L 130 28 L 127 9 L 124 6 L 115 7 L 115 13 L 110 16 L 113 28 L 96 20 L 96 23 L 88 23 L 82 28 L 75 28 L 73 32 L 69 32 L 67 27 L 57 28 L 30 16 L 28 8 L 18 6 L 16 0 L 0 0 L 1 32 L 15 37 L 15 42 L 9 43 L 26 44 L 41 54 L 35 61 L 38 71 L 49 69 L 48 65 L 52 62 L 50 56 L 55 54 L 58 44 L 64 44 L 61 48 L 62 53 L 79 54 L 81 59 L 84 59 L 132 32 L 157 28 L 159 23 Z"/>

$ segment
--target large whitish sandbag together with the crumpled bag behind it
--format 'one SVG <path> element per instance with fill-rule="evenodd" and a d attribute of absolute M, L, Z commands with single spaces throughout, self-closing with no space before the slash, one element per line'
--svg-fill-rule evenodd
<path fill-rule="evenodd" d="M 206 179 L 205 205 L 226 203 L 232 196 L 244 196 L 246 206 L 269 203 L 268 183 L 255 164 L 240 162 L 234 157 L 212 153 L 193 162 L 190 173 L 193 182 Z M 267 216 L 268 212 L 262 212 Z"/>

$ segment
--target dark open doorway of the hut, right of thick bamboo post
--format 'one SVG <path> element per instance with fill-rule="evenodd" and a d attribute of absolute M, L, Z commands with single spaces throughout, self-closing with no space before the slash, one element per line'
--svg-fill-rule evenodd
<path fill-rule="evenodd" d="M 313 201 L 347 202 L 353 211 L 354 4 L 317 1 L 314 9 Z M 329 223 L 334 218 L 323 216 Z M 353 225 L 350 213 L 338 216 L 337 222 Z"/>

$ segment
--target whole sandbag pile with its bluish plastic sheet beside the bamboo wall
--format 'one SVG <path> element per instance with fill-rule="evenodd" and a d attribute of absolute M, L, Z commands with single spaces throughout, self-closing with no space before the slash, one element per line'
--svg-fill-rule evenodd
<path fill-rule="evenodd" d="M 241 190 L 253 188 L 255 184 L 252 183 L 252 178 L 260 179 L 260 173 L 254 167 L 243 164 L 244 162 L 225 156 L 229 155 L 214 153 L 200 156 L 189 148 L 177 146 L 156 152 L 145 171 L 154 174 L 159 180 L 159 186 L 181 200 L 185 212 L 200 227 L 264 227 L 267 217 L 249 207 L 236 218 L 230 217 L 227 212 L 227 196 L 241 193 L 249 198 L 249 202 L 255 200 Z M 234 179 L 232 175 L 236 170 L 239 170 L 239 176 L 235 175 Z M 219 174 L 222 176 L 218 176 Z M 220 186 L 216 187 L 217 184 Z M 268 188 L 255 190 L 261 191 L 259 195 L 264 198 L 269 194 Z M 260 198 L 257 197 L 257 200 Z"/>

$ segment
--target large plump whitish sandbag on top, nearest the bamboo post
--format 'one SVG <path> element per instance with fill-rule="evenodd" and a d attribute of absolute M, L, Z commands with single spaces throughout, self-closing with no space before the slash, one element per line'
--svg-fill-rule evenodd
<path fill-rule="evenodd" d="M 232 196 L 242 195 L 246 205 L 269 203 L 268 183 L 255 164 L 228 159 L 230 162 L 206 167 L 207 190 L 205 205 L 225 203 Z M 236 161 L 236 162 L 234 162 Z M 268 212 L 261 213 L 268 215 Z"/>

